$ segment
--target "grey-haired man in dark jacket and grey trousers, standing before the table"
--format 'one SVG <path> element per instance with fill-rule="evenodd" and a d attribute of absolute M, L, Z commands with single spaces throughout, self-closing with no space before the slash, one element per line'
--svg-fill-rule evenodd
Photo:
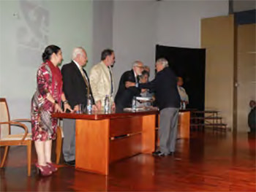
<path fill-rule="evenodd" d="M 138 88 L 154 90 L 157 106 L 160 110 L 159 150 L 153 155 L 173 155 L 176 146 L 178 129 L 178 110 L 180 96 L 177 89 L 177 78 L 168 67 L 165 58 L 159 58 L 156 62 L 157 75 L 151 82 L 137 84 Z M 126 82 L 126 87 L 135 86 L 134 82 Z"/>

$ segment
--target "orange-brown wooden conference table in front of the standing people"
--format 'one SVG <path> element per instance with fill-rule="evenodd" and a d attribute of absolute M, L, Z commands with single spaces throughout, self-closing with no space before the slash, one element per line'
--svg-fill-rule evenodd
<path fill-rule="evenodd" d="M 158 113 L 158 110 L 145 110 L 110 114 L 54 113 L 52 116 L 76 120 L 75 169 L 108 175 L 113 161 L 154 152 Z"/>

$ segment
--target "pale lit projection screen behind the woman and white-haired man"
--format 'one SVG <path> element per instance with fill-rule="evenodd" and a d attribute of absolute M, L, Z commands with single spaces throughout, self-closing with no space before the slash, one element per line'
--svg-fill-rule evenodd
<path fill-rule="evenodd" d="M 7 98 L 11 119 L 30 118 L 37 69 L 47 45 L 61 47 L 62 64 L 70 62 L 73 47 L 84 47 L 89 57 L 86 70 L 90 69 L 92 6 L 86 0 L 0 0 L 0 97 Z M 23 130 L 12 128 L 12 134 L 18 133 Z"/>

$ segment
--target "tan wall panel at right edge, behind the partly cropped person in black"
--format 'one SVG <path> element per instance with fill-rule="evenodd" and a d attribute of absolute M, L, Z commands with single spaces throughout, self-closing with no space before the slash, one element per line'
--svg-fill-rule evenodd
<path fill-rule="evenodd" d="M 247 116 L 249 101 L 256 97 L 256 25 L 237 28 L 237 125 L 238 131 L 249 131 Z"/>

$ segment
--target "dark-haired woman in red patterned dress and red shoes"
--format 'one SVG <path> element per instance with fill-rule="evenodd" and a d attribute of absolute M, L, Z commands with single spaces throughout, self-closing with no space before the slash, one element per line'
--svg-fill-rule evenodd
<path fill-rule="evenodd" d="M 43 64 L 37 71 L 37 91 L 31 101 L 32 139 L 37 150 L 37 169 L 44 175 L 57 171 L 51 163 L 52 140 L 56 138 L 58 119 L 51 118 L 53 112 L 71 110 L 62 92 L 62 76 L 58 67 L 62 61 L 60 47 L 49 45 L 42 53 Z M 72 111 L 72 110 L 71 110 Z"/>

